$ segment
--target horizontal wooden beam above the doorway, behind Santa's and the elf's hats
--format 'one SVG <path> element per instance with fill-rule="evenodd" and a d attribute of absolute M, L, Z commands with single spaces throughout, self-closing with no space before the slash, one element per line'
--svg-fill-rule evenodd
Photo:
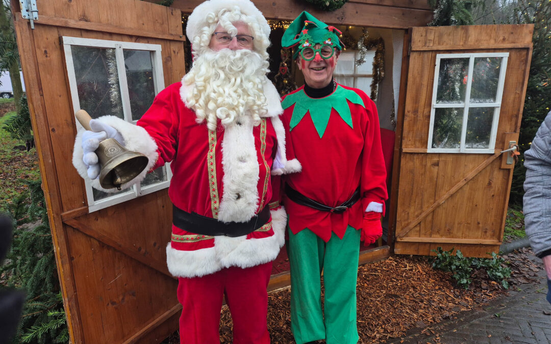
<path fill-rule="evenodd" d="M 153 0 L 148 0 L 153 1 Z M 175 0 L 171 7 L 191 13 L 203 0 Z M 306 10 L 327 24 L 370 26 L 372 28 L 407 29 L 425 26 L 433 18 L 429 9 L 380 6 L 371 3 L 347 3 L 340 9 L 327 12 L 301 0 L 255 1 L 266 18 L 294 20 Z"/>

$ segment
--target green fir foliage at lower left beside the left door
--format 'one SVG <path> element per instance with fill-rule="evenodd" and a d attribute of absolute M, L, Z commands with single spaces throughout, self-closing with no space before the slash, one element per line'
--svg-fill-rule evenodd
<path fill-rule="evenodd" d="M 41 181 L 27 181 L 29 193 L 9 206 L 14 237 L 0 274 L 7 285 L 27 294 L 23 317 L 14 343 L 66 343 L 68 329 L 63 312 L 52 237 Z M 30 198 L 30 201 L 29 201 Z"/>

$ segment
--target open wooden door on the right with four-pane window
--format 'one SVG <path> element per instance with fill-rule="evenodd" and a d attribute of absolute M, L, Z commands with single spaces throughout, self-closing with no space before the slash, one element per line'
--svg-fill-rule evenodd
<path fill-rule="evenodd" d="M 498 252 L 532 54 L 531 25 L 408 32 L 405 101 L 397 125 L 397 254 L 455 247 Z M 396 185 L 396 184 L 395 184 Z"/>

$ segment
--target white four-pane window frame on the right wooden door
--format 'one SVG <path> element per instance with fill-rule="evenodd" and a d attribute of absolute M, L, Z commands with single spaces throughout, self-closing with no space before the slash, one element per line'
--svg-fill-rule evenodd
<path fill-rule="evenodd" d="M 501 57 L 501 66 L 499 72 L 498 90 L 496 94 L 495 102 L 493 103 L 473 103 L 471 106 L 471 84 L 473 79 L 474 58 L 480 57 Z M 430 127 L 429 127 L 429 142 L 427 145 L 427 152 L 429 153 L 494 153 L 495 139 L 498 132 L 499 114 L 501 110 L 501 99 L 503 96 L 503 87 L 505 84 L 505 73 L 507 70 L 507 58 L 508 52 L 504 53 L 462 53 L 462 54 L 436 54 L 436 65 L 434 68 L 434 85 L 433 85 L 433 101 L 430 109 Z M 469 58 L 469 69 L 467 73 L 467 86 L 465 90 L 465 102 L 464 103 L 436 103 L 436 92 L 438 88 L 438 78 L 440 73 L 440 60 L 450 58 Z M 434 131 L 434 114 L 436 108 L 463 108 L 463 123 L 461 128 L 461 141 L 460 148 L 432 148 L 433 145 L 433 131 Z M 465 140 L 467 137 L 467 119 L 470 107 L 493 107 L 494 119 L 491 125 L 490 131 L 490 143 L 489 148 L 465 148 Z"/>

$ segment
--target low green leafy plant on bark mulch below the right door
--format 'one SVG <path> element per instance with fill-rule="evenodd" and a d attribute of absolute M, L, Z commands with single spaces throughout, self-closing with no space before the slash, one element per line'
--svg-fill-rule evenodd
<path fill-rule="evenodd" d="M 458 286 L 468 289 L 472 282 L 473 269 L 483 269 L 490 280 L 501 283 L 505 289 L 509 288 L 507 279 L 511 276 L 511 269 L 505 266 L 503 258 L 493 252 L 491 258 L 467 258 L 460 250 L 456 250 L 454 255 L 453 250 L 455 247 L 449 251 L 444 251 L 441 247 L 431 250 L 436 253 L 433 268 L 451 272 Z"/>

